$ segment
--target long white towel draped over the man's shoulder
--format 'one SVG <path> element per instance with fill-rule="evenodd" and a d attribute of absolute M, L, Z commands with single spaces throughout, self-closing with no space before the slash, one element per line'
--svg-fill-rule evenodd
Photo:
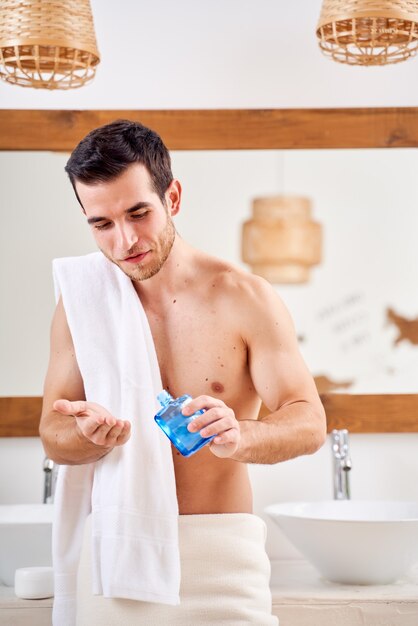
<path fill-rule="evenodd" d="M 75 623 L 90 511 L 93 593 L 178 604 L 178 503 L 170 442 L 153 419 L 162 385 L 148 320 L 130 278 L 101 252 L 55 259 L 53 269 L 86 399 L 132 423 L 129 441 L 99 461 L 59 468 L 53 624 Z"/>

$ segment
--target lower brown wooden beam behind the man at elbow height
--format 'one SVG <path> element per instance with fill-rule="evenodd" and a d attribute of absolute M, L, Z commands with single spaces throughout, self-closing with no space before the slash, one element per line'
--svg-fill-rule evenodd
<path fill-rule="evenodd" d="M 347 428 L 351 433 L 418 432 L 418 394 L 321 395 L 328 432 Z M 37 437 L 42 398 L 0 398 L 0 437 Z M 263 405 L 260 416 L 268 409 Z"/>

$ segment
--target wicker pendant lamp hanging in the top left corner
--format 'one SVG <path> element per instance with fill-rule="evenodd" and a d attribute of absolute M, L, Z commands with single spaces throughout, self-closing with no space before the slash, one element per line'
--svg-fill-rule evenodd
<path fill-rule="evenodd" d="M 90 82 L 100 61 L 89 0 L 0 0 L 0 77 L 35 89 Z"/>

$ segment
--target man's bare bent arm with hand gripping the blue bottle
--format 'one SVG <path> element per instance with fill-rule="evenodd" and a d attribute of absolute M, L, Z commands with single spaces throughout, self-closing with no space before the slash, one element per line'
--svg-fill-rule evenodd
<path fill-rule="evenodd" d="M 324 443 L 325 411 L 314 380 L 299 352 L 290 315 L 266 281 L 251 276 L 231 307 L 243 329 L 255 389 L 271 411 L 264 418 L 237 421 L 222 400 L 198 396 L 182 410 L 205 408 L 188 429 L 209 444 L 215 456 L 244 463 L 278 463 L 311 454 Z"/>

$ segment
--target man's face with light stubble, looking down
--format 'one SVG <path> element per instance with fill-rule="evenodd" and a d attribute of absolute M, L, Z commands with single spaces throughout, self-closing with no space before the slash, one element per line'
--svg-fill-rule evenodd
<path fill-rule="evenodd" d="M 171 186 L 163 204 L 139 163 L 112 181 L 76 182 L 98 247 L 132 280 L 154 276 L 170 254 L 175 239 Z"/>

